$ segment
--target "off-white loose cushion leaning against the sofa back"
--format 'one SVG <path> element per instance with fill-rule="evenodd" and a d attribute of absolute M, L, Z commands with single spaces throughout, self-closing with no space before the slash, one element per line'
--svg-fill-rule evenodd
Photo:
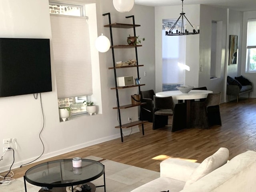
<path fill-rule="evenodd" d="M 209 174 L 213 170 L 219 168 L 220 166 L 226 164 L 229 157 L 229 151 L 227 148 L 221 147 L 213 155 L 206 158 L 191 174 L 189 180 L 186 181 L 184 188 L 190 186 L 192 183 L 196 182 L 200 178 Z"/>

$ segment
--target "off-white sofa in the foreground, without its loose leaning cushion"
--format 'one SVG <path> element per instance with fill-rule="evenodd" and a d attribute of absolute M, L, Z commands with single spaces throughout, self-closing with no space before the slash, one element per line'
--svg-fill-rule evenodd
<path fill-rule="evenodd" d="M 168 190 L 169 192 L 256 192 L 256 152 L 254 151 L 247 151 L 235 156 L 224 165 L 184 188 L 199 166 L 200 164 L 196 162 L 166 159 L 160 163 L 160 178 L 148 182 L 132 192 Z"/>

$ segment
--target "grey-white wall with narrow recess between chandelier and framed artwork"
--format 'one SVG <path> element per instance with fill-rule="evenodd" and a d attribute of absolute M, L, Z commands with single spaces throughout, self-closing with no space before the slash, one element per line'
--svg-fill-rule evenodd
<path fill-rule="evenodd" d="M 212 20 L 222 21 L 222 58 L 220 78 L 210 80 L 210 58 L 211 58 L 211 26 Z M 200 5 L 200 65 L 199 87 L 206 86 L 213 92 L 222 92 L 221 102 L 225 96 L 226 79 L 226 36 L 227 36 L 227 10 L 212 6 Z"/>

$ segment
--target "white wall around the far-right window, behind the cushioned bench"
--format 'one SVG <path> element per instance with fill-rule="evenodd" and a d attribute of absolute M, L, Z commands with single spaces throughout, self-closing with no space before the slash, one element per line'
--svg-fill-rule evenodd
<path fill-rule="evenodd" d="M 248 78 L 252 82 L 253 89 L 254 89 L 254 84 L 256 83 L 255 73 L 246 73 L 245 69 L 246 69 L 247 22 L 248 22 L 248 19 L 255 19 L 255 18 L 256 18 L 256 11 L 244 12 L 243 38 L 242 38 L 242 64 L 241 64 L 241 75 Z M 252 98 L 256 97 L 255 91 L 252 92 L 251 97 Z"/>

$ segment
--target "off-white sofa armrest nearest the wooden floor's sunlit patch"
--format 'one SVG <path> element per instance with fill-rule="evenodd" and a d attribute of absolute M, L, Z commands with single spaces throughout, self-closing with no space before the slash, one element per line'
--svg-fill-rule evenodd
<path fill-rule="evenodd" d="M 186 182 L 200 163 L 168 158 L 160 163 L 160 177 Z"/>

